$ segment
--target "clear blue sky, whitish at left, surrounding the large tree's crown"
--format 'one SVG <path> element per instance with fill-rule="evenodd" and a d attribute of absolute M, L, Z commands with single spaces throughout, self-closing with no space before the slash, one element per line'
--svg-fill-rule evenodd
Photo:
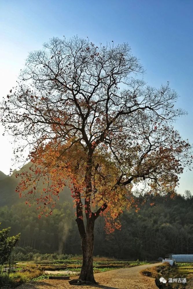
<path fill-rule="evenodd" d="M 140 59 L 144 80 L 159 87 L 170 81 L 188 112 L 174 127 L 193 144 L 192 0 L 0 0 L 0 101 L 15 86 L 30 51 L 49 38 L 87 36 L 94 44 L 128 42 Z M 13 144 L 2 136 L 0 171 L 9 174 Z M 184 170 L 177 191 L 193 193 L 193 172 Z"/>

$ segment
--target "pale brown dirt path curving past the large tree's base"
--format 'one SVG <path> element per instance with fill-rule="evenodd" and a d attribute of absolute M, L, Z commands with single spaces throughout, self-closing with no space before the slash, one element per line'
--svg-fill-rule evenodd
<path fill-rule="evenodd" d="M 95 274 L 95 280 L 99 285 L 82 285 L 82 289 L 157 289 L 152 278 L 141 275 L 142 269 L 156 266 L 160 263 L 136 266 L 133 268 L 117 269 Z M 68 280 L 40 280 L 23 284 L 18 289 L 77 289 L 76 285 L 69 285 Z"/>

